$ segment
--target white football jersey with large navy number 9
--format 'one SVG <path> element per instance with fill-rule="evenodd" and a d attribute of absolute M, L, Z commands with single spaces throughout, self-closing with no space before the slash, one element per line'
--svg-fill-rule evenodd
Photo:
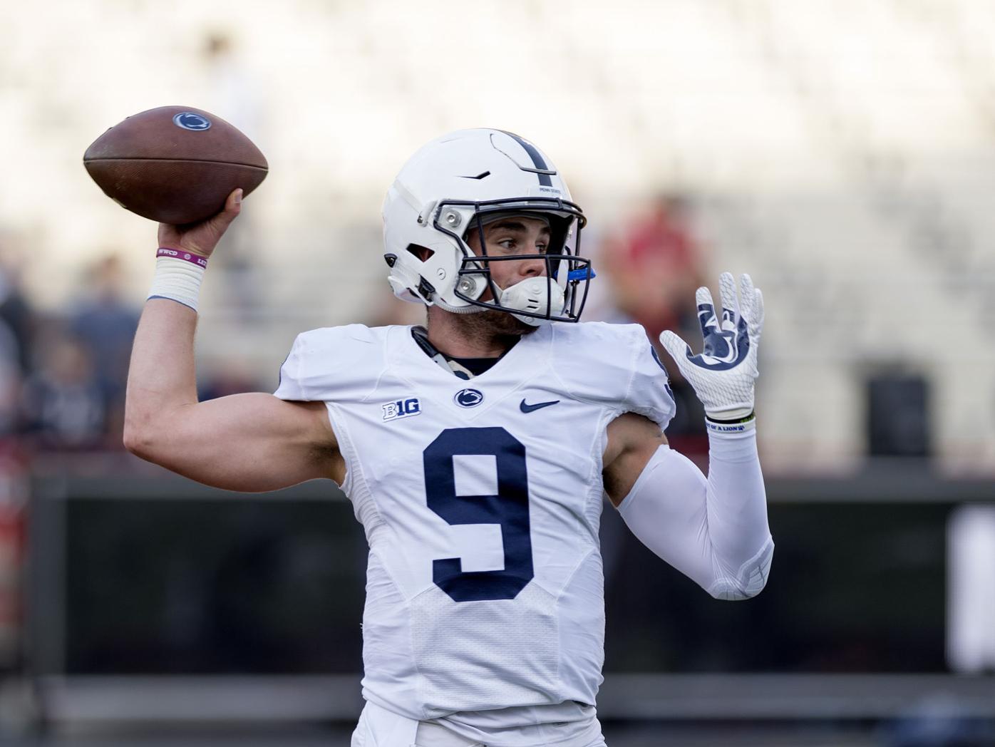
<path fill-rule="evenodd" d="M 541 326 L 469 381 L 411 327 L 315 329 L 276 395 L 323 401 L 345 459 L 370 547 L 367 700 L 418 720 L 593 705 L 605 429 L 674 414 L 641 326 Z"/>

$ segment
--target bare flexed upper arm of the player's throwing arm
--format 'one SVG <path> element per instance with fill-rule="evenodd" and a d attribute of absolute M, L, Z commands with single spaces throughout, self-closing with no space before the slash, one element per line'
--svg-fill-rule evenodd
<path fill-rule="evenodd" d="M 322 402 L 235 394 L 184 405 L 150 429 L 139 456 L 215 487 L 257 492 L 344 477 Z"/>

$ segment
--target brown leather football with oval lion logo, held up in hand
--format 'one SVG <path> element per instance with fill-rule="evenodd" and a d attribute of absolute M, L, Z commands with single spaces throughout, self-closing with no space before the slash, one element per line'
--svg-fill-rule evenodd
<path fill-rule="evenodd" d="M 159 106 L 127 117 L 87 148 L 83 163 L 107 197 L 160 223 L 193 223 L 248 195 L 269 171 L 266 157 L 221 117 L 192 106 Z"/>

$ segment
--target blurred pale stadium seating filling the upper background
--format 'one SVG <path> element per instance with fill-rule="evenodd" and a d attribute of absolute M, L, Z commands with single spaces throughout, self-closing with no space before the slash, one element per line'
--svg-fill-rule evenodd
<path fill-rule="evenodd" d="M 546 144 L 596 230 L 660 189 L 692 196 L 715 270 L 749 270 L 767 293 L 769 467 L 852 467 L 862 377 L 892 364 L 932 380 L 944 467 L 995 466 L 977 417 L 995 389 L 995 347 L 978 344 L 995 297 L 989 3 L 482 3 L 473 23 L 441 2 L 61 7 L 45 34 L 30 9 L 0 11 L 16 30 L 0 51 L 0 152 L 21 175 L 0 221 L 48 308 L 108 243 L 135 299 L 148 277 L 151 226 L 88 182 L 82 149 L 145 106 L 202 104 L 274 164 L 237 266 L 266 281 L 208 283 L 204 365 L 240 357 L 274 376 L 300 328 L 382 302 L 379 200 L 406 154 L 493 122 Z M 209 53 L 219 34 L 230 42 Z M 147 67 L 116 63 L 129 56 Z"/>

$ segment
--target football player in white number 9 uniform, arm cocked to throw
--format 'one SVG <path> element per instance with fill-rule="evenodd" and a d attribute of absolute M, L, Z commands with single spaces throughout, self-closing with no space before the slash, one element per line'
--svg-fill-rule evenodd
<path fill-rule="evenodd" d="M 383 207 L 388 280 L 426 325 L 303 332 L 274 395 L 198 402 L 198 289 L 240 203 L 159 226 L 127 448 L 232 490 L 341 485 L 370 548 L 353 747 L 604 745 L 604 496 L 713 597 L 766 583 L 760 291 L 723 274 L 716 306 L 698 289 L 701 353 L 661 336 L 704 406 L 705 476 L 667 444 L 674 400 L 643 328 L 579 321 L 585 218 L 549 158 L 461 130 L 416 152 Z"/>

